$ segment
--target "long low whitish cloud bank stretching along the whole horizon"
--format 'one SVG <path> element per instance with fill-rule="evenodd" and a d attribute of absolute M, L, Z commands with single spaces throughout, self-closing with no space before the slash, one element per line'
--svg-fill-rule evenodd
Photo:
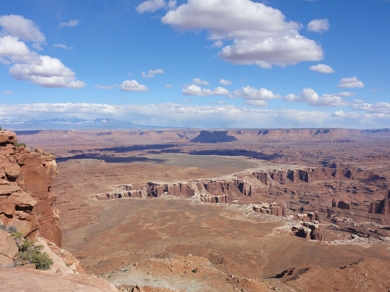
<path fill-rule="evenodd" d="M 106 116 L 143 125 L 165 125 L 196 128 L 307 128 L 390 127 L 390 114 L 336 111 L 269 110 L 261 107 L 232 105 L 196 106 L 191 104 L 2 104 L 0 116 L 38 119 L 76 115 L 95 119 Z M 131 119 L 131 120 L 129 120 Z"/>

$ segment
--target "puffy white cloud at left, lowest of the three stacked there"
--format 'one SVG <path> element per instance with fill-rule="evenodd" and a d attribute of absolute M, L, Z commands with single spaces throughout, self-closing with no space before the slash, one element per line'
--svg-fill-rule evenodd
<path fill-rule="evenodd" d="M 76 73 L 57 58 L 39 56 L 41 64 L 14 64 L 9 73 L 20 81 L 31 81 L 43 87 L 83 88 L 86 84 L 76 80 Z"/>

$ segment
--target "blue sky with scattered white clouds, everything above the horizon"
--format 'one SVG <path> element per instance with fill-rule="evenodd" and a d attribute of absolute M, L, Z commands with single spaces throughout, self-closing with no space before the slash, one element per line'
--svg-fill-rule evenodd
<path fill-rule="evenodd" d="M 390 127 L 388 0 L 15 0 L 0 116 Z"/>

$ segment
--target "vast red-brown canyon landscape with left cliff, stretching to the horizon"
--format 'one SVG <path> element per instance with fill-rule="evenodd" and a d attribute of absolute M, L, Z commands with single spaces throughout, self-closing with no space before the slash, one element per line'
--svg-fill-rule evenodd
<path fill-rule="evenodd" d="M 0 219 L 63 248 L 77 275 L 121 290 L 390 289 L 386 129 L 16 134 L 28 147 L 0 131 Z"/>

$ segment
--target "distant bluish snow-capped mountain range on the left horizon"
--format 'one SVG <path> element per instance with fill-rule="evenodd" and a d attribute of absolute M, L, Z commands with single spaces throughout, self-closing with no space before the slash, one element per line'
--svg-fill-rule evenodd
<path fill-rule="evenodd" d="M 0 118 L 0 126 L 10 131 L 14 130 L 121 130 L 121 129 L 161 129 L 172 127 L 159 127 L 137 125 L 135 123 L 102 118 L 96 120 L 84 120 L 75 116 L 49 119 L 33 120 L 28 118 Z"/>

